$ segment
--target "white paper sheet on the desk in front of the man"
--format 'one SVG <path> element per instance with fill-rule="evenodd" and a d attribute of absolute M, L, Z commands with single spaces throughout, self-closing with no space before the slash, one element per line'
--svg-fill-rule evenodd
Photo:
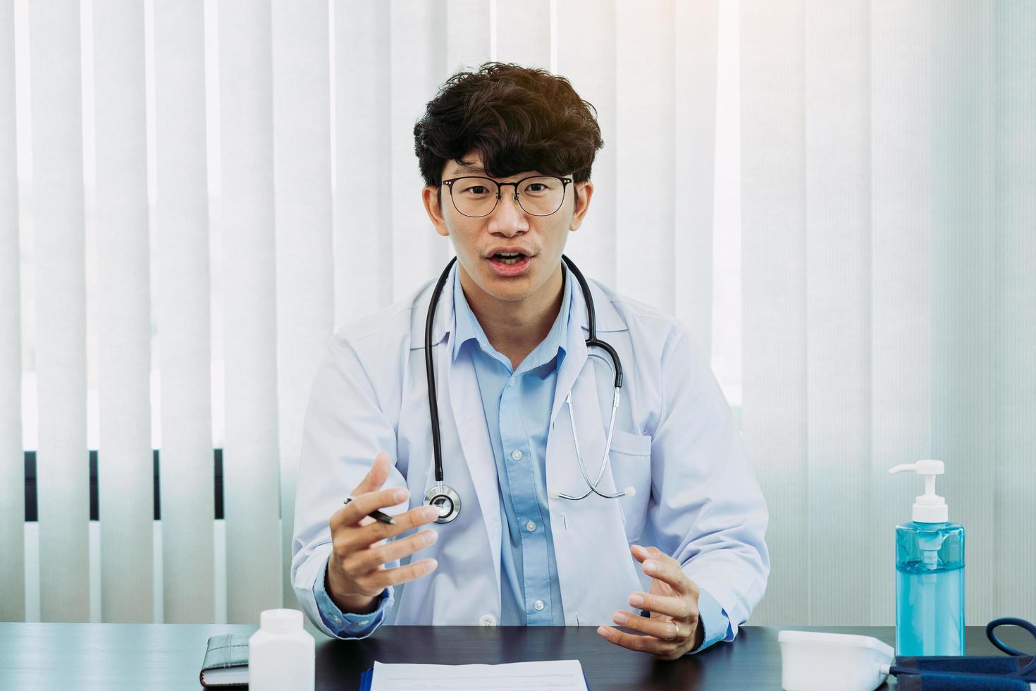
<path fill-rule="evenodd" d="M 371 691 L 479 689 L 480 691 L 586 691 L 578 660 L 510 662 L 500 665 L 374 663 Z"/>

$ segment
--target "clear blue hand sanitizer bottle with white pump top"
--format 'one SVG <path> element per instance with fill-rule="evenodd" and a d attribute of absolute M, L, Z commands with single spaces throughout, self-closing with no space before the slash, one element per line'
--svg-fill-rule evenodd
<path fill-rule="evenodd" d="M 890 468 L 924 477 L 914 520 L 896 526 L 896 655 L 965 654 L 965 527 L 936 494 L 942 461 Z"/>

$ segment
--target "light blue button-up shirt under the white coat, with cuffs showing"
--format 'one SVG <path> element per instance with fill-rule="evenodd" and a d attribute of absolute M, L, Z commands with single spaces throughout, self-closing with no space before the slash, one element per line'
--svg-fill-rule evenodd
<path fill-rule="evenodd" d="M 496 463 L 503 546 L 500 550 L 502 626 L 565 626 L 545 468 L 550 410 L 557 372 L 566 355 L 572 291 L 577 287 L 568 269 L 564 276 L 557 318 L 546 338 L 515 370 L 507 356 L 489 343 L 461 289 L 459 272 L 454 273 L 456 323 L 452 355 L 455 362 L 469 356 L 474 366 Z M 371 635 L 392 608 L 393 592 L 385 588 L 375 611 L 342 612 L 327 596 L 323 581 L 316 579 L 313 593 L 324 624 L 339 636 Z M 704 589 L 700 589 L 698 610 L 704 640 L 693 652 L 732 637 L 726 613 Z"/>

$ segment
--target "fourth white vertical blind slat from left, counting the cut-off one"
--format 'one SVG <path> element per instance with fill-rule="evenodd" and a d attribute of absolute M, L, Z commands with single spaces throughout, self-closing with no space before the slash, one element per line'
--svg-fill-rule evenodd
<path fill-rule="evenodd" d="M 212 328 L 205 8 L 154 2 L 154 254 L 164 621 L 213 618 Z M 145 4 L 145 8 L 148 4 Z"/>

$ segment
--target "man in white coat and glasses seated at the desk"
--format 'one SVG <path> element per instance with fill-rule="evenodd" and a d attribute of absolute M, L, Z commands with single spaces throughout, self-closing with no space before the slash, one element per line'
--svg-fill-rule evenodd
<path fill-rule="evenodd" d="M 623 371 L 606 451 L 614 374 L 586 346 L 588 306 L 562 260 L 603 145 L 587 106 L 562 77 L 486 63 L 451 78 L 414 127 L 426 210 L 457 254 L 429 335 L 443 477 L 429 280 L 343 326 L 315 378 L 291 578 L 330 636 L 597 626 L 674 659 L 732 640 L 762 597 L 766 502 L 706 353 L 681 321 L 588 280 Z M 621 496 L 588 491 L 577 444 L 598 489 Z M 440 480 L 460 509 L 449 522 L 425 501 Z"/>

